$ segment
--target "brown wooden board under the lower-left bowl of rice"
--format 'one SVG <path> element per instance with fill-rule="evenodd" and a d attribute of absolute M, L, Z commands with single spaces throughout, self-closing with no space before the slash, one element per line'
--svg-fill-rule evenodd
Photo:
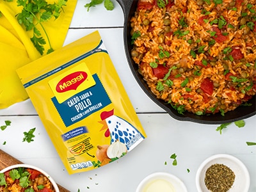
<path fill-rule="evenodd" d="M 18 159 L 15 159 L 13 156 L 10 156 L 9 154 L 7 154 L 6 152 L 0 149 L 0 170 L 3 170 L 3 168 L 6 168 L 13 164 L 22 164 L 22 162 L 19 161 Z M 70 192 L 68 191 L 68 189 L 63 188 L 59 184 L 57 185 L 58 185 L 58 188 L 60 189 L 60 192 Z"/>

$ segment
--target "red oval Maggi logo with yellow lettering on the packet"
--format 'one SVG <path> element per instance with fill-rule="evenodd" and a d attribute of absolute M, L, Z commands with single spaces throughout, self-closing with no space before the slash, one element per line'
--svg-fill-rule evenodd
<path fill-rule="evenodd" d="M 77 71 L 69 74 L 59 81 L 56 86 L 56 91 L 63 93 L 69 90 L 76 90 L 77 87 L 86 80 L 87 76 L 88 75 L 84 71 Z"/>

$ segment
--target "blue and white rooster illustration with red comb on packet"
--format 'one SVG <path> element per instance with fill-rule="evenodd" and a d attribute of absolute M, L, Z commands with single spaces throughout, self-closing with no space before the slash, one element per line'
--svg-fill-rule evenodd
<path fill-rule="evenodd" d="M 110 144 L 119 140 L 121 143 L 126 145 L 127 151 L 129 152 L 145 138 L 140 131 L 129 124 L 129 122 L 114 115 L 114 109 L 111 111 L 103 111 L 100 114 L 100 118 L 102 121 L 99 123 L 103 124 L 100 131 L 106 130 L 104 135 L 106 137 L 111 136 Z"/>

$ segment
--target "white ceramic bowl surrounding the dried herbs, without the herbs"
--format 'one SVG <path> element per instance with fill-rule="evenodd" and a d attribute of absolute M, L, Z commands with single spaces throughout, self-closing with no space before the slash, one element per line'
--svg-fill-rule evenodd
<path fill-rule="evenodd" d="M 198 192 L 209 192 L 205 186 L 205 172 L 212 164 L 224 164 L 235 174 L 235 180 L 228 192 L 248 192 L 250 188 L 250 175 L 246 166 L 234 156 L 217 154 L 211 156 L 200 164 L 196 172 L 196 188 Z"/>

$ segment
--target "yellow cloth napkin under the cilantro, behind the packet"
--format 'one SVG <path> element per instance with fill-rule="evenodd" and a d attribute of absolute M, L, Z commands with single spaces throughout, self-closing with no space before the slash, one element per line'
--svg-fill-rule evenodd
<path fill-rule="evenodd" d="M 54 1 L 47 2 L 53 3 Z M 67 1 L 67 6 L 63 6 L 58 19 L 43 22 L 54 50 L 63 46 L 76 3 L 77 0 Z M 15 17 L 21 10 L 22 6 L 17 6 L 16 0 L 0 1 L 0 109 L 28 99 L 28 94 L 17 76 L 16 69 L 41 57 L 30 40 L 33 32 L 26 31 Z M 36 28 L 40 29 L 46 40 L 41 28 L 39 26 Z M 46 52 L 49 49 L 48 43 L 44 47 Z"/>

